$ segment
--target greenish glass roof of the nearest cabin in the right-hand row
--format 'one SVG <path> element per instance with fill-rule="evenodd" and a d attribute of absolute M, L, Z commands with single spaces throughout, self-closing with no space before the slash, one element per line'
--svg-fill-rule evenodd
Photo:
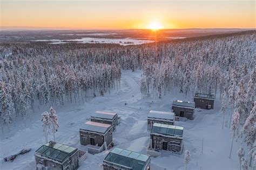
<path fill-rule="evenodd" d="M 166 136 L 179 136 L 183 137 L 184 128 L 181 126 L 166 125 L 161 123 L 154 123 L 151 133 L 160 133 Z"/>

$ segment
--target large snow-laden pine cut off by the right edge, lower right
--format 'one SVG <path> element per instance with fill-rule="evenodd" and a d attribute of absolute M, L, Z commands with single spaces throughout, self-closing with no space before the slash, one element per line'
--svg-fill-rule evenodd
<path fill-rule="evenodd" d="M 241 129 L 242 133 L 242 142 L 247 144 L 248 150 L 251 150 L 253 144 L 255 143 L 256 137 L 256 101 L 254 102 L 254 107 L 250 112 L 250 115 L 247 117 L 244 126 Z M 249 154 L 249 165 L 252 162 L 252 156 Z"/>

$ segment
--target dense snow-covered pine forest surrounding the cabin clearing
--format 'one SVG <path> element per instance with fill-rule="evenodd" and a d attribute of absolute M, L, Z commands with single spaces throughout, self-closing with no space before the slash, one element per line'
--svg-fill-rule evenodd
<path fill-rule="evenodd" d="M 3 126 L 10 131 L 30 119 L 35 108 L 61 108 L 109 94 L 120 88 L 122 69 L 141 69 L 144 98 L 219 94 L 221 121 L 232 131 L 232 144 L 240 138 L 247 146 L 238 152 L 242 169 L 256 158 L 255 31 L 136 46 L 6 42 L 0 54 L 3 132 Z M 236 152 L 232 144 L 230 155 Z"/>

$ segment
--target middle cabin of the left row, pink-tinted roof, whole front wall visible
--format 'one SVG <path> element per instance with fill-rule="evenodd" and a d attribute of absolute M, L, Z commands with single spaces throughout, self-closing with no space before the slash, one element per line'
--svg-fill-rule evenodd
<path fill-rule="evenodd" d="M 110 124 L 88 121 L 82 125 L 80 132 L 81 145 L 102 146 L 112 142 L 112 126 Z"/>

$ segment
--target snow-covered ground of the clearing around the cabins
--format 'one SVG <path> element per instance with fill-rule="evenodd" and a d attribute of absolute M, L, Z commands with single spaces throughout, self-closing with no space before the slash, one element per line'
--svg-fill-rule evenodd
<path fill-rule="evenodd" d="M 58 109 L 60 128 L 56 133 L 56 141 L 80 150 L 86 151 L 86 146 L 79 143 L 79 127 L 85 123 L 96 110 L 116 111 L 122 122 L 113 133 L 113 142 L 121 148 L 146 154 L 149 145 L 149 132 L 146 131 L 146 117 L 149 110 L 170 111 L 174 99 L 193 100 L 192 95 L 185 98 L 181 94 L 168 94 L 161 99 L 142 99 L 139 90 L 141 71 L 123 71 L 121 88 L 112 91 L 110 95 L 96 97 L 82 105 L 68 105 Z M 125 103 L 127 103 L 125 105 Z M 48 109 L 49 110 L 49 109 Z M 234 142 L 232 158 L 228 159 L 231 131 L 221 129 L 222 115 L 219 112 L 219 96 L 215 101 L 214 110 L 196 109 L 193 121 L 175 122 L 184 126 L 183 154 L 163 152 L 161 157 L 152 158 L 151 169 L 184 169 L 184 151 L 191 151 L 191 162 L 188 169 L 239 169 L 237 150 L 240 142 Z M 45 143 L 41 113 L 35 113 L 29 128 L 16 125 L 11 133 L 0 133 L 0 167 L 1 169 L 35 169 L 34 152 Z M 36 121 L 33 121 L 36 120 Z M 201 153 L 204 138 L 203 153 Z M 53 139 L 51 135 L 50 140 Z M 3 158 L 15 154 L 23 148 L 31 147 L 32 150 L 24 155 L 19 155 L 13 162 L 4 162 Z M 102 162 L 107 154 L 88 154 L 87 159 L 79 169 L 102 169 Z"/>

